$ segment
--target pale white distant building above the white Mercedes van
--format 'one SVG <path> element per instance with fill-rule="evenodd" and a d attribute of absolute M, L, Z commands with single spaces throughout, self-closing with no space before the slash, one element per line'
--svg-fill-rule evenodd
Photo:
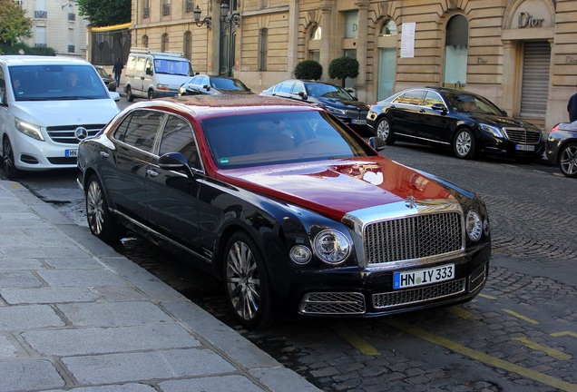
<path fill-rule="evenodd" d="M 13 0 L 32 19 L 32 38 L 24 39 L 29 46 L 52 47 L 56 54 L 86 57 L 86 27 L 88 22 L 78 14 L 73 0 Z"/>

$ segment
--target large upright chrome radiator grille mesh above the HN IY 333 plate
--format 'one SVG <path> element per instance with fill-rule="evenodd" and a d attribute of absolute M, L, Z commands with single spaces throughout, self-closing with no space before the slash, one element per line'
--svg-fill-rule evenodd
<path fill-rule="evenodd" d="M 372 223 L 364 234 L 370 265 L 462 250 L 464 230 L 461 215 L 447 212 Z"/>

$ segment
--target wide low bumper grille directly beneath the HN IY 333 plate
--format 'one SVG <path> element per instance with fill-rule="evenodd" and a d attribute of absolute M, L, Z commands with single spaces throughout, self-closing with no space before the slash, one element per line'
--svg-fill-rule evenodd
<path fill-rule="evenodd" d="M 382 294 L 373 294 L 375 309 L 407 305 L 431 299 L 440 299 L 465 291 L 465 278 L 417 289 L 406 289 Z"/>

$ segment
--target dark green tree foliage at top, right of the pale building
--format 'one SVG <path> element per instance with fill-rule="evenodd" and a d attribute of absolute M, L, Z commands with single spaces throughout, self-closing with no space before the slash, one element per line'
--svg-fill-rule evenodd
<path fill-rule="evenodd" d="M 131 0 L 76 0 L 78 14 L 94 27 L 122 25 L 131 21 Z"/>

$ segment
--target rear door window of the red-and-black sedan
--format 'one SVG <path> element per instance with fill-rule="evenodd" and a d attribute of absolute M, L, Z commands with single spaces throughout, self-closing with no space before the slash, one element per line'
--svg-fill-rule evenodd
<path fill-rule="evenodd" d="M 163 115 L 161 112 L 135 111 L 122 122 L 114 137 L 142 151 L 152 152 Z"/>

